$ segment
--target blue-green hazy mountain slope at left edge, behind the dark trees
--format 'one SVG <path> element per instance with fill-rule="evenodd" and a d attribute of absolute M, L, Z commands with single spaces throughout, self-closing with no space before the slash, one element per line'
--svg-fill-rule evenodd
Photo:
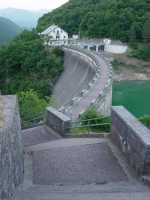
<path fill-rule="evenodd" d="M 0 46 L 9 43 L 21 31 L 11 20 L 0 17 Z"/>

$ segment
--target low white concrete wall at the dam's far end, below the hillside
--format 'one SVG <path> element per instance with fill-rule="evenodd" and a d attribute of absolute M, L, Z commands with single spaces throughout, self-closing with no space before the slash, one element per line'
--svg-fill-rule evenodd
<path fill-rule="evenodd" d="M 125 53 L 127 48 L 127 46 L 105 44 L 104 51 L 111 53 Z"/>

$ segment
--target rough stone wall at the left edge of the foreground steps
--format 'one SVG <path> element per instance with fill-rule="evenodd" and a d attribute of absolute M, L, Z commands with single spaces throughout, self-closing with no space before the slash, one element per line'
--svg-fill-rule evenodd
<path fill-rule="evenodd" d="M 23 146 L 17 97 L 3 96 L 4 123 L 0 126 L 0 199 L 8 199 L 23 183 Z"/>

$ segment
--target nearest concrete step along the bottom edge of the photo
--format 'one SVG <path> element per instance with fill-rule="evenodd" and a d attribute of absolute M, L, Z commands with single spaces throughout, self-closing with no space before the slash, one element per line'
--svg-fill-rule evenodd
<path fill-rule="evenodd" d="M 104 184 L 74 186 L 31 186 L 12 200 L 150 200 L 150 190 L 144 185 Z"/>

